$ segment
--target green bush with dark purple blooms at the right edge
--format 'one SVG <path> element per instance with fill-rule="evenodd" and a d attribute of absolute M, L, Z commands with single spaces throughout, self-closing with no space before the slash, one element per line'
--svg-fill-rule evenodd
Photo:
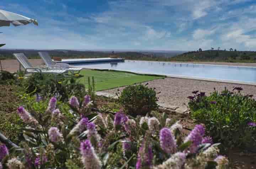
<path fill-rule="evenodd" d="M 226 88 L 219 93 L 214 91 L 210 96 L 205 93 L 192 92 L 188 103 L 192 117 L 206 125 L 209 134 L 226 146 L 255 146 L 256 128 L 248 125 L 256 122 L 256 101 L 252 95 L 242 95 L 242 88 Z M 234 91 L 233 90 L 233 91 Z"/>

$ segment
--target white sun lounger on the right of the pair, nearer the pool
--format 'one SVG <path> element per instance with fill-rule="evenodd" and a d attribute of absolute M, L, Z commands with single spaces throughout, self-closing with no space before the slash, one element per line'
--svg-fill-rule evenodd
<path fill-rule="evenodd" d="M 54 63 L 52 58 L 49 56 L 48 52 L 38 52 L 38 54 L 43 59 L 46 66 L 49 67 L 50 69 L 63 69 L 63 70 L 70 71 L 73 74 L 74 72 L 77 72 L 79 74 L 80 71 L 82 70 L 82 68 L 69 67 L 69 64 L 67 63 Z"/>

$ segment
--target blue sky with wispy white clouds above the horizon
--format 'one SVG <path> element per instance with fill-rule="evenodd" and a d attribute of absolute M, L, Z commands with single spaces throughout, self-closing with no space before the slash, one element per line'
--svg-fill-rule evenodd
<path fill-rule="evenodd" d="M 18 49 L 256 51 L 255 0 L 1 0 L 37 19 L 0 27 Z"/>

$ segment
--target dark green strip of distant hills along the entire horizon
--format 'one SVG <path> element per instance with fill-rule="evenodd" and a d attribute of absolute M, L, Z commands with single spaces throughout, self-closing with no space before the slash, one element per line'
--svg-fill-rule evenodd
<path fill-rule="evenodd" d="M 0 60 L 15 59 L 12 53 L 25 53 L 28 58 L 40 58 L 38 50 L 6 50 L 0 49 Z M 224 51 L 206 50 L 191 51 L 180 54 L 182 51 L 76 51 L 76 50 L 44 50 L 52 57 L 61 58 L 101 58 L 114 55 L 126 60 L 144 61 L 185 61 L 185 62 L 256 62 L 255 51 Z"/>

